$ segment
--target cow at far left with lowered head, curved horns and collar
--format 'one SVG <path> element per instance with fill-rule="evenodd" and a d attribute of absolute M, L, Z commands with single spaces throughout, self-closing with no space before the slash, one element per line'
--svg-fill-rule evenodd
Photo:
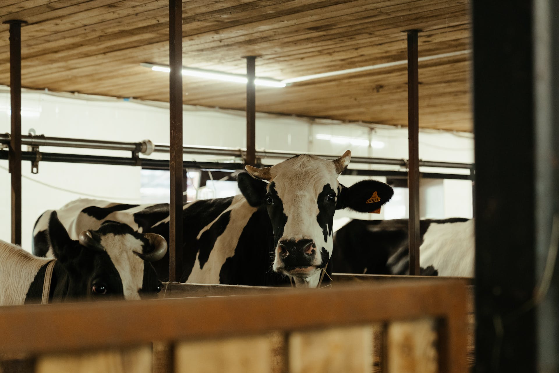
<path fill-rule="evenodd" d="M 167 252 L 160 235 L 140 234 L 126 224 L 105 221 L 72 240 L 55 211 L 48 213 L 43 234 L 54 260 L 0 240 L 0 305 L 140 299 L 162 288 L 151 266 Z"/>

